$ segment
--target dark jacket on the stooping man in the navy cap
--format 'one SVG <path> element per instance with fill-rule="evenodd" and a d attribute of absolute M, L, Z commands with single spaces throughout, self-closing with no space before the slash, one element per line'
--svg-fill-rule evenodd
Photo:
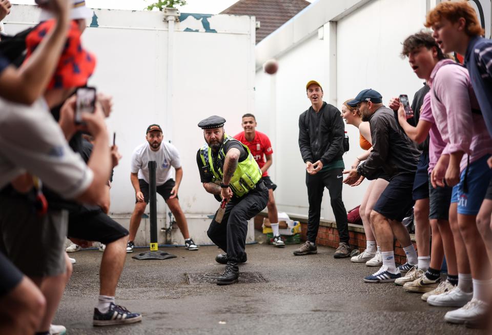
<path fill-rule="evenodd" d="M 373 150 L 357 172 L 368 179 L 380 173 L 380 168 L 389 175 L 415 173 L 421 151 L 408 138 L 395 120 L 394 112 L 382 106 L 369 119 Z"/>

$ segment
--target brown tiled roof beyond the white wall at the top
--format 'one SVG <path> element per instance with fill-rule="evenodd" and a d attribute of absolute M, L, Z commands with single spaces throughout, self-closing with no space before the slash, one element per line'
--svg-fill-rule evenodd
<path fill-rule="evenodd" d="M 260 22 L 256 43 L 289 21 L 310 3 L 304 0 L 239 0 L 220 14 L 254 15 Z"/>

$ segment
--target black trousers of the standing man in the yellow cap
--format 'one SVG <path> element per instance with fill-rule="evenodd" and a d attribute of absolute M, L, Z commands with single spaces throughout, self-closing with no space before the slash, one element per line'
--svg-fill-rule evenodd
<path fill-rule="evenodd" d="M 321 200 L 326 187 L 330 192 L 335 220 L 337 222 L 340 242 L 348 244 L 347 211 L 342 201 L 342 168 L 320 171 L 315 175 L 306 172 L 306 186 L 308 187 L 309 216 L 308 216 L 308 241 L 316 242 L 319 229 L 319 217 L 321 213 Z"/>

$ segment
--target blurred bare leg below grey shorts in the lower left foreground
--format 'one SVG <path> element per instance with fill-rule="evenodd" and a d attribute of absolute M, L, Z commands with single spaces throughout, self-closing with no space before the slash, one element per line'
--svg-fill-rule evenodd
<path fill-rule="evenodd" d="M 72 264 L 65 253 L 66 271 L 63 274 L 52 277 L 35 278 L 33 281 L 38 285 L 46 299 L 46 312 L 37 331 L 49 331 L 51 322 L 56 314 L 56 309 L 65 290 L 65 285 L 72 275 Z"/>

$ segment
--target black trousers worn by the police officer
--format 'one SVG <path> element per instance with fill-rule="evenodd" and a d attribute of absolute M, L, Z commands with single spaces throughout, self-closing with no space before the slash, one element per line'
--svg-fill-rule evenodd
<path fill-rule="evenodd" d="M 227 258 L 238 262 L 245 254 L 248 220 L 267 207 L 268 189 L 263 182 L 242 198 L 233 196 L 227 204 L 221 223 L 214 219 L 207 234 L 220 249 L 227 253 Z M 215 212 L 217 215 L 217 212 Z"/>

